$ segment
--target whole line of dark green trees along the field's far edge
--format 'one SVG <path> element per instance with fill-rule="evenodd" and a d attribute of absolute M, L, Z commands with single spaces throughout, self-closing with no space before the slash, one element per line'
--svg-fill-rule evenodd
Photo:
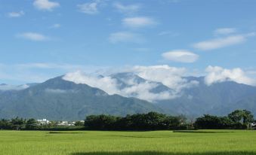
<path fill-rule="evenodd" d="M 112 115 L 90 115 L 85 123 L 77 121 L 78 129 L 91 130 L 172 130 L 172 129 L 250 129 L 254 116 L 247 110 L 236 110 L 224 117 L 205 114 L 192 123 L 183 115 L 169 116 L 150 112 L 147 114 L 132 114 L 125 117 Z M 56 124 L 55 124 L 56 125 Z M 35 119 L 13 118 L 0 120 L 0 129 L 52 129 L 54 123 L 40 125 Z"/>

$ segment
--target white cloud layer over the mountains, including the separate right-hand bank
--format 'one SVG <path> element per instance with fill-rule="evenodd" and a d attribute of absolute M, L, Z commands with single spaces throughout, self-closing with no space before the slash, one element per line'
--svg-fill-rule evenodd
<path fill-rule="evenodd" d="M 92 75 L 82 71 L 70 72 L 63 80 L 76 84 L 88 84 L 97 87 L 109 95 L 119 94 L 126 97 L 136 97 L 150 102 L 174 99 L 181 96 L 183 90 L 196 87 L 199 81 L 188 81 L 184 78 L 186 68 L 170 67 L 168 65 L 134 66 L 125 71 L 110 75 Z M 241 68 L 225 69 L 217 66 L 206 68 L 205 84 L 211 85 L 224 81 L 235 81 L 239 84 L 254 85 L 255 81 L 248 78 Z M 154 92 L 153 90 L 158 90 Z"/>

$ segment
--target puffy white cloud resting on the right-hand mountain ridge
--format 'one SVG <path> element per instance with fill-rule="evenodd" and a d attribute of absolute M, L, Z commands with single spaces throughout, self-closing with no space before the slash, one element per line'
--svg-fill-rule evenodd
<path fill-rule="evenodd" d="M 208 74 L 205 76 L 205 84 L 211 85 L 224 81 L 234 81 L 239 84 L 256 85 L 256 81 L 246 76 L 241 68 L 226 69 L 219 66 L 208 66 L 206 68 Z"/>

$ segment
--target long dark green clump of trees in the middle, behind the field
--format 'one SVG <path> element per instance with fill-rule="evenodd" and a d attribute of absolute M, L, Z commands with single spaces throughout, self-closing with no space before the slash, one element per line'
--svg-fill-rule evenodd
<path fill-rule="evenodd" d="M 86 129 L 97 130 L 160 130 L 187 129 L 186 118 L 172 117 L 165 114 L 150 112 L 148 114 L 133 114 L 126 117 L 111 115 L 91 115 L 85 119 Z"/>

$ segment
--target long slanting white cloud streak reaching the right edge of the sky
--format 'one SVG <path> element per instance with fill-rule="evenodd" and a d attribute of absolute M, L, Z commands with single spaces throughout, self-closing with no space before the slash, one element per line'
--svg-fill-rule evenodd
<path fill-rule="evenodd" d="M 224 38 L 215 38 L 208 41 L 202 41 L 193 44 L 193 47 L 199 50 L 214 50 L 221 47 L 227 47 L 234 44 L 241 44 L 245 42 L 248 37 L 254 36 L 255 33 L 248 33 L 245 35 L 230 35 Z"/>

